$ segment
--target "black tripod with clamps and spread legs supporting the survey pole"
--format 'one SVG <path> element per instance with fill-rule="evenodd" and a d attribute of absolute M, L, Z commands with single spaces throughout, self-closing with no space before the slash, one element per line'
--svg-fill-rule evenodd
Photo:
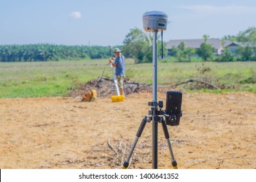
<path fill-rule="evenodd" d="M 174 155 L 173 155 L 173 149 L 171 148 L 171 142 L 170 142 L 170 136 L 168 133 L 168 129 L 167 129 L 167 125 L 165 123 L 165 119 L 164 116 L 169 116 L 167 114 L 165 114 L 164 110 L 162 110 L 163 108 L 163 101 L 159 101 L 157 102 L 149 102 L 149 106 L 151 106 L 151 110 L 149 110 L 149 115 L 152 115 L 150 117 L 145 116 L 143 118 L 143 120 L 141 121 L 141 125 L 139 125 L 139 129 L 137 131 L 134 143 L 132 144 L 132 148 L 130 149 L 130 152 L 128 154 L 128 157 L 126 158 L 126 160 L 124 161 L 124 164 L 122 166 L 123 169 L 128 168 L 129 166 L 129 161 L 130 158 L 132 157 L 132 153 L 134 152 L 135 146 L 137 144 L 137 141 L 139 140 L 139 137 L 141 137 L 141 134 L 143 132 L 143 129 L 145 128 L 146 123 L 150 123 L 151 121 L 153 122 L 153 168 L 157 168 L 158 165 L 158 161 L 157 161 L 157 151 L 158 151 L 158 141 L 157 141 L 157 135 L 155 136 L 155 133 L 158 132 L 158 123 L 162 123 L 162 127 L 164 130 L 164 135 L 165 135 L 165 139 L 167 140 L 167 144 L 169 147 L 169 151 L 171 154 L 171 164 L 173 166 L 174 169 L 177 169 L 177 161 L 175 161 Z M 180 112 L 180 116 L 182 115 L 182 112 Z M 173 115 L 173 122 L 176 122 L 176 117 L 175 115 Z M 170 116 L 169 116 L 170 117 Z"/>

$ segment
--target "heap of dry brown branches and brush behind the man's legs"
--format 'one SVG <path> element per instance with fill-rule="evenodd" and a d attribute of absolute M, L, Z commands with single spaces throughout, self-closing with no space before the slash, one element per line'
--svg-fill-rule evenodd
<path fill-rule="evenodd" d="M 72 90 L 69 96 L 71 96 L 72 98 L 78 98 L 83 96 L 85 92 L 88 92 L 92 89 L 97 90 L 98 98 L 107 98 L 109 96 L 117 95 L 117 90 L 115 89 L 115 83 L 113 83 L 113 80 L 102 77 L 98 79 L 92 79 L 91 81 L 79 86 L 79 88 Z M 143 90 L 151 91 L 152 85 L 130 82 L 127 79 L 124 79 L 124 93 L 126 95 L 138 93 Z"/>

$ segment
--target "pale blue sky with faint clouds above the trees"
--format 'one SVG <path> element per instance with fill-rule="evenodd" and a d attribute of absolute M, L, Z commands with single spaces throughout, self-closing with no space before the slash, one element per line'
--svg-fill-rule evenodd
<path fill-rule="evenodd" d="M 256 27 L 255 0 L 0 0 L 0 44 L 121 45 L 151 10 L 171 21 L 165 41 Z"/>

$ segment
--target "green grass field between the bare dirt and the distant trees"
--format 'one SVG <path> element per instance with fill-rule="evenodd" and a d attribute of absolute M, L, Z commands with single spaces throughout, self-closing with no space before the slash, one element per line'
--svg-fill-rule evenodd
<path fill-rule="evenodd" d="M 0 62 L 0 98 L 67 96 L 82 83 L 101 77 L 107 62 Z M 112 77 L 110 66 L 104 77 Z M 152 84 L 152 64 L 134 64 L 127 59 L 126 78 Z M 256 92 L 256 62 L 158 62 L 158 85 L 171 86 L 188 79 L 223 85 L 221 90 L 188 87 L 188 92 Z"/>

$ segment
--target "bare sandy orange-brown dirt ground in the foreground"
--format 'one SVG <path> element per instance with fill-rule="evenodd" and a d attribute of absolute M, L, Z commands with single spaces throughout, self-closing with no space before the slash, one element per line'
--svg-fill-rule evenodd
<path fill-rule="evenodd" d="M 158 93 L 165 101 L 165 94 Z M 0 168 L 121 168 L 148 115 L 150 92 L 81 102 L 0 99 Z M 168 126 L 178 168 L 256 168 L 256 94 L 183 93 L 180 125 Z M 152 167 L 152 122 L 129 168 Z M 158 124 L 158 168 L 172 168 Z"/>

